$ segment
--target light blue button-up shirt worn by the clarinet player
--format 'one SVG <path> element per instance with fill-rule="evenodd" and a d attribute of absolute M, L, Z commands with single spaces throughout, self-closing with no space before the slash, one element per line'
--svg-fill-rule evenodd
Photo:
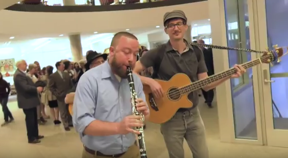
<path fill-rule="evenodd" d="M 145 100 L 143 86 L 138 75 L 133 74 L 138 98 Z M 110 65 L 104 64 L 85 72 L 77 85 L 73 124 L 82 143 L 89 149 L 103 154 L 118 154 L 134 144 L 135 135 L 88 136 L 84 129 L 94 120 L 121 122 L 132 115 L 131 94 L 127 79 L 117 80 Z"/>

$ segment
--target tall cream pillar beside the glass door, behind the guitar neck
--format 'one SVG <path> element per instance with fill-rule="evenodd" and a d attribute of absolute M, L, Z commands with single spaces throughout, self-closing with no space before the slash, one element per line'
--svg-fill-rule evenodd
<path fill-rule="evenodd" d="M 224 1 L 208 0 L 208 3 L 212 44 L 227 46 Z M 229 68 L 228 51 L 213 49 L 213 61 L 217 63 L 214 64 L 215 73 L 227 70 Z M 228 111 L 228 107 L 232 107 L 230 80 L 219 85 L 216 92 L 220 140 L 232 142 L 234 140 L 233 115 L 232 111 Z"/>

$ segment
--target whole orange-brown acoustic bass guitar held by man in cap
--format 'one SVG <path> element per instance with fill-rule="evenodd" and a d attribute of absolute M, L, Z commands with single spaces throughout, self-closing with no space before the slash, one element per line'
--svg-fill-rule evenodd
<path fill-rule="evenodd" d="M 283 55 L 283 48 L 276 47 L 275 50 L 268 51 L 262 57 L 242 64 L 245 69 L 260 63 L 270 63 Z M 235 68 L 214 74 L 202 80 L 191 83 L 189 77 L 184 73 L 175 74 L 169 81 L 156 80 L 164 91 L 162 98 L 153 97 L 149 86 L 144 85 L 146 101 L 150 109 L 149 121 L 153 123 L 164 123 L 169 121 L 180 108 L 191 108 L 193 103 L 188 100 L 189 93 L 199 90 L 215 81 L 229 77 L 236 73 Z"/>

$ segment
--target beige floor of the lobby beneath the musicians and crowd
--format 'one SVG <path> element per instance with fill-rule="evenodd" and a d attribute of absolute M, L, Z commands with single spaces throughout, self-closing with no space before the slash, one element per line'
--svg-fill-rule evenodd
<path fill-rule="evenodd" d="M 203 100 L 200 100 L 203 102 Z M 28 144 L 24 115 L 17 108 L 15 99 L 9 102 L 15 122 L 0 128 L 0 157 L 43 157 L 43 158 L 81 158 L 83 146 L 78 134 L 71 130 L 65 132 L 62 126 L 55 126 L 52 120 L 40 126 L 40 134 L 45 138 L 40 144 Z M 207 142 L 210 158 L 231 157 L 287 157 L 288 148 L 268 146 L 221 143 L 219 139 L 217 108 L 208 109 L 200 104 L 201 115 L 206 126 Z M 3 118 L 3 114 L 0 114 Z M 148 123 L 145 130 L 145 141 L 148 157 L 167 158 L 167 150 L 159 132 L 159 125 Z M 185 157 L 192 157 L 186 143 L 184 143 Z"/>

